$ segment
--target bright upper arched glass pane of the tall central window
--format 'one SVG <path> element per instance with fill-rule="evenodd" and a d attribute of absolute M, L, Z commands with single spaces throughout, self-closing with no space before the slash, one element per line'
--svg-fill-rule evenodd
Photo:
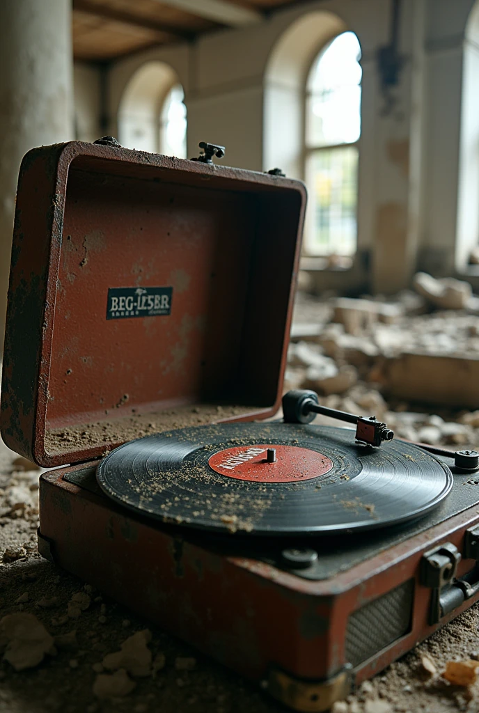
<path fill-rule="evenodd" d="M 344 32 L 321 52 L 308 81 L 307 144 L 352 143 L 361 132 L 361 48 Z"/>

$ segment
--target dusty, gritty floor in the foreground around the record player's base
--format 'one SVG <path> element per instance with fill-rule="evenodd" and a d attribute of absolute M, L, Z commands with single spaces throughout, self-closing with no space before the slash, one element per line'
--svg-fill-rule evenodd
<path fill-rule="evenodd" d="M 309 308 L 308 308 L 309 309 Z M 0 662 L 0 711 L 8 713 L 271 713 L 284 708 L 220 665 L 194 652 L 88 585 L 42 560 L 36 551 L 38 470 L 14 463 L 0 443 L 0 618 L 14 612 L 38 617 L 56 640 L 56 654 L 38 667 L 16 672 Z M 88 607 L 73 611 L 71 597 L 88 595 Z M 74 607 L 73 607 L 74 608 Z M 68 610 L 70 609 L 70 615 Z M 73 615 L 71 615 L 73 613 Z M 118 651 L 134 632 L 150 628 L 154 660 L 165 666 L 135 679 L 125 697 L 100 700 L 93 692 L 103 657 Z M 76 635 L 62 635 L 76 632 Z M 1 643 L 1 642 L 0 642 Z M 423 667 L 427 654 L 437 674 Z M 184 657 L 191 670 L 182 670 Z M 364 684 L 335 713 L 479 711 L 479 684 L 468 692 L 441 678 L 448 660 L 479 659 L 479 606 L 471 607 L 403 660 Z M 180 668 L 178 668 L 180 667 Z"/>

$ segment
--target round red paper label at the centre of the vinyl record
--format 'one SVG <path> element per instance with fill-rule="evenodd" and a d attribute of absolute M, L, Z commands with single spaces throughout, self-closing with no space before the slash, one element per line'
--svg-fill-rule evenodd
<path fill-rule="evenodd" d="M 309 448 L 259 444 L 225 448 L 211 456 L 208 465 L 222 476 L 241 481 L 294 483 L 324 476 L 333 462 Z"/>

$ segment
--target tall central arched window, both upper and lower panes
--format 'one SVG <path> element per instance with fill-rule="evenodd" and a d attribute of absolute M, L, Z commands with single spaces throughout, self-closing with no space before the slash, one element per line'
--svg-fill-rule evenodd
<path fill-rule="evenodd" d="M 360 58 L 356 35 L 343 32 L 321 51 L 309 71 L 305 127 L 309 255 L 356 251 Z"/>

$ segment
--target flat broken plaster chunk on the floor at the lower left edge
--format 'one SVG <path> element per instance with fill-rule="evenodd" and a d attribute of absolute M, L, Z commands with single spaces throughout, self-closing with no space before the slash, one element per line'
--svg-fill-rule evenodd
<path fill-rule="evenodd" d="M 24 612 L 0 620 L 0 651 L 16 671 L 37 666 L 46 654 L 56 654 L 53 637 L 36 616 Z"/>

